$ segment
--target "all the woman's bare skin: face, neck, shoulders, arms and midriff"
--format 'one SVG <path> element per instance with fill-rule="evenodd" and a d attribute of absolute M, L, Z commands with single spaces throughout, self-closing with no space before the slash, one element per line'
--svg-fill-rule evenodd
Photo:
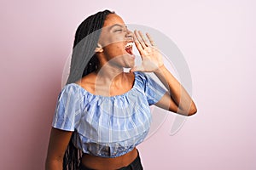
<path fill-rule="evenodd" d="M 141 54 L 142 65 L 134 67 L 134 57 L 125 51 L 125 44 L 134 41 Z M 196 107 L 183 86 L 166 69 L 154 40 L 140 31 L 131 32 L 117 14 L 108 14 L 99 40 L 96 54 L 100 61 L 97 71 L 77 82 L 91 94 L 113 96 L 128 92 L 134 82 L 133 71 L 154 72 L 168 89 L 168 93 L 156 104 L 168 111 L 184 116 L 196 113 Z M 123 67 L 131 67 L 125 73 Z M 73 132 L 52 128 L 45 169 L 61 170 L 67 144 Z M 102 158 L 84 154 L 82 163 L 93 169 L 113 170 L 125 167 L 137 157 L 137 150 L 116 158 Z"/>

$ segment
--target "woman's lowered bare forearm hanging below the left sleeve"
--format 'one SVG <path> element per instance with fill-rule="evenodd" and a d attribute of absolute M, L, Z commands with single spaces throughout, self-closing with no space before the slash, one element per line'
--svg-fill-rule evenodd
<path fill-rule="evenodd" d="M 45 170 L 62 170 L 63 156 L 73 132 L 52 127 Z"/>

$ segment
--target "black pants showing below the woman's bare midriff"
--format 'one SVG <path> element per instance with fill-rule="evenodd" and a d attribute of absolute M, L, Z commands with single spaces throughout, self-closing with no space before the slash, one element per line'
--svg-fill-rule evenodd
<path fill-rule="evenodd" d="M 85 167 L 81 163 L 80 166 L 79 166 L 79 170 L 94 170 L 94 169 L 90 169 L 89 167 Z M 128 165 L 127 167 L 121 167 L 117 170 L 143 170 L 143 165 L 142 165 L 139 153 L 137 152 L 136 159 L 134 161 L 132 161 L 130 165 Z"/>

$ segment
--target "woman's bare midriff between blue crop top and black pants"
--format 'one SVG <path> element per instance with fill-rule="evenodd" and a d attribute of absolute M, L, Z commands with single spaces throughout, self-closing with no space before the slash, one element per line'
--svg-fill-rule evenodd
<path fill-rule="evenodd" d="M 114 170 L 121 167 L 126 167 L 137 158 L 137 149 L 134 148 L 123 156 L 108 158 L 100 156 L 91 156 L 84 154 L 82 163 L 85 167 L 97 170 Z"/>

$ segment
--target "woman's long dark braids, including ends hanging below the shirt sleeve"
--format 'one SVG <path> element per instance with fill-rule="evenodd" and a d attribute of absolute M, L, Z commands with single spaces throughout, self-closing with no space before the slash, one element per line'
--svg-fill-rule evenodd
<path fill-rule="evenodd" d="M 95 48 L 99 40 L 101 29 L 108 14 L 113 14 L 109 10 L 104 10 L 90 15 L 78 27 L 73 42 L 73 53 L 70 65 L 70 73 L 67 84 L 79 81 L 80 78 L 96 71 L 98 59 Z M 64 170 L 77 170 L 82 157 L 82 151 L 73 145 L 73 135 L 70 140 L 65 156 L 63 158 Z"/>

